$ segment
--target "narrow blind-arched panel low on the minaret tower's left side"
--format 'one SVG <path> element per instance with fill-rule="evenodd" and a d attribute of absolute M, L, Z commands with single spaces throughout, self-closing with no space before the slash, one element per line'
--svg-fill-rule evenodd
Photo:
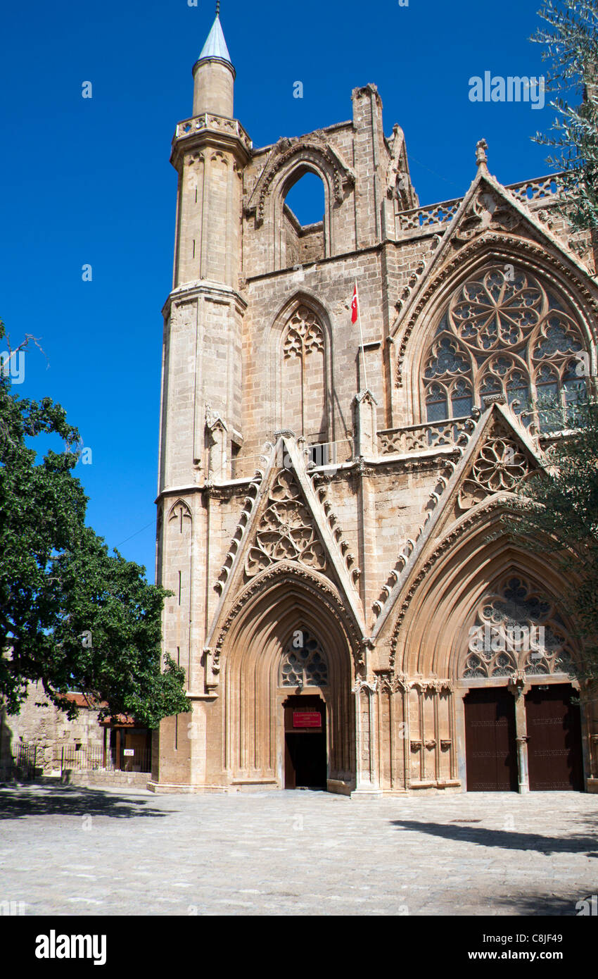
<path fill-rule="evenodd" d="M 165 557 L 162 585 L 173 592 L 164 604 L 164 646 L 187 673 L 191 688 L 192 619 L 192 512 L 183 499 L 176 500 L 165 520 Z"/>

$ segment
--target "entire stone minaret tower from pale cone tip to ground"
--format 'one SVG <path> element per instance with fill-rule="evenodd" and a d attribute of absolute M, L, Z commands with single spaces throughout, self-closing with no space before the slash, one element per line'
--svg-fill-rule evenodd
<path fill-rule="evenodd" d="M 212 497 L 231 479 L 232 453 L 242 443 L 246 303 L 238 289 L 251 142 L 233 118 L 234 81 L 217 11 L 193 68 L 193 116 L 178 123 L 170 158 L 179 181 L 173 288 L 162 310 L 156 581 L 172 592 L 164 606 L 164 649 L 184 667 L 193 705 L 192 716 L 164 719 L 155 741 L 153 778 L 171 784 L 205 777 L 202 656 L 220 520 Z"/>

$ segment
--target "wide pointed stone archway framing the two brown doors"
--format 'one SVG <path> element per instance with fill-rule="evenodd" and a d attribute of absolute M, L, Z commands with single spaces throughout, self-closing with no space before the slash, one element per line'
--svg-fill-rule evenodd
<path fill-rule="evenodd" d="M 509 697 L 512 693 L 514 700 L 507 698 L 507 703 L 512 705 L 521 747 L 526 740 L 521 691 L 546 682 L 573 682 L 577 686 L 573 678 L 578 655 L 575 628 L 559 607 L 562 576 L 543 555 L 526 549 L 525 541 L 505 536 L 492 539 L 504 512 L 500 499 L 470 511 L 437 542 L 432 555 L 423 558 L 423 567 L 413 569 L 413 578 L 406 583 L 406 599 L 395 617 L 391 662 L 408 688 L 406 725 L 411 751 L 407 778 L 411 785 L 465 783 L 463 698 L 470 690 L 482 687 L 491 692 L 491 688 L 508 686 Z M 554 619 L 558 609 L 558 628 L 566 635 L 572 662 L 562 669 L 549 653 L 532 663 L 532 656 L 522 648 L 515 657 L 515 669 L 498 669 L 493 674 L 489 670 L 490 676 L 466 676 L 470 643 L 474 636 L 476 641 L 479 637 L 479 632 L 472 630 L 479 624 L 480 608 L 486 596 L 495 596 L 503 583 L 514 580 L 526 583 L 528 598 L 535 595 L 547 599 L 546 618 Z M 501 665 L 497 658 L 490 660 L 491 667 Z M 590 713 L 586 708 L 582 711 L 585 735 L 592 723 Z M 520 755 L 524 754 L 521 748 Z M 519 775 L 520 782 L 527 785 L 526 762 L 521 758 Z"/>

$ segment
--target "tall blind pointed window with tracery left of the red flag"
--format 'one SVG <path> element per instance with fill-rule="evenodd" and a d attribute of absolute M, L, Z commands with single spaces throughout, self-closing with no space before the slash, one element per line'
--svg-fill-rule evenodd
<path fill-rule="evenodd" d="M 334 442 L 332 331 L 327 310 L 296 294 L 285 303 L 268 340 L 270 431 L 289 429 L 309 443 Z"/>

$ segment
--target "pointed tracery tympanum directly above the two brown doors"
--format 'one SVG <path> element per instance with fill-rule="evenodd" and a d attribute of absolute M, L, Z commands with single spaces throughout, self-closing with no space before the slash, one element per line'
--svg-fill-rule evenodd
<path fill-rule="evenodd" d="M 485 596 L 474 629 L 462 676 L 575 676 L 565 623 L 554 603 L 521 576 Z"/>

